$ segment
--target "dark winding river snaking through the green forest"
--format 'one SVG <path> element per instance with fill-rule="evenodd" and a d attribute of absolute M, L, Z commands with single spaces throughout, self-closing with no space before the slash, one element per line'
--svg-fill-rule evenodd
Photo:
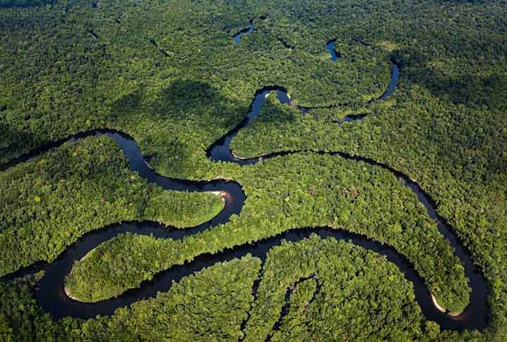
<path fill-rule="evenodd" d="M 249 30 L 252 29 L 253 22 L 251 22 L 251 27 L 249 29 L 242 32 L 251 32 Z M 240 32 L 240 34 L 242 32 Z M 237 36 L 234 36 L 234 39 L 236 39 L 236 37 Z M 239 35 L 237 37 L 237 42 L 239 42 L 239 37 L 241 36 Z M 330 42 L 328 42 L 328 49 L 330 48 Z M 334 51 L 334 46 L 332 46 L 331 49 Z M 335 55 L 332 54 L 332 58 L 334 58 L 334 56 Z M 375 99 L 374 101 L 383 101 L 387 99 L 387 97 L 391 95 L 396 89 L 398 78 L 399 67 L 398 65 L 394 64 L 387 91 L 385 91 L 382 96 L 380 96 L 378 99 Z M 239 165 L 251 165 L 258 163 L 259 160 L 265 160 L 268 158 L 273 158 L 275 156 L 284 156 L 292 153 L 305 152 L 291 151 L 270 153 L 268 155 L 256 158 L 239 158 L 237 156 L 234 156 L 230 150 L 230 143 L 232 139 L 237 135 L 239 130 L 247 127 L 251 124 L 251 122 L 253 122 L 253 120 L 255 120 L 255 118 L 260 113 L 263 104 L 265 103 L 266 96 L 270 91 L 277 91 L 277 96 L 280 99 L 280 102 L 298 108 L 303 114 L 311 110 L 311 108 L 303 108 L 294 105 L 294 103 L 292 103 L 291 99 L 287 95 L 287 91 L 282 87 L 264 87 L 263 89 L 260 89 L 256 92 L 246 118 L 244 118 L 242 122 L 239 122 L 239 124 L 234 127 L 234 129 L 225 134 L 224 137 L 218 139 L 218 141 L 215 141 L 215 143 L 208 148 L 208 158 L 211 158 L 211 160 L 215 161 L 221 160 L 229 163 L 237 163 Z M 364 116 L 365 115 L 349 115 L 338 123 L 341 124 L 342 122 L 362 120 Z M 367 248 L 370 251 L 375 251 L 375 253 L 385 255 L 390 262 L 393 262 L 397 267 L 399 267 L 399 270 L 403 272 L 405 278 L 413 283 L 415 299 L 420 305 L 420 308 L 422 309 L 425 317 L 439 323 L 442 329 L 462 330 L 484 329 L 486 327 L 486 284 L 482 273 L 477 269 L 477 267 L 473 265 L 470 255 L 467 253 L 467 251 L 465 251 L 463 244 L 461 241 L 459 241 L 456 234 L 454 234 L 453 228 L 450 227 L 446 220 L 437 214 L 437 207 L 430 196 L 428 196 L 416 182 L 411 180 L 406 175 L 403 175 L 403 173 L 394 170 L 392 167 L 389 167 L 389 165 L 379 163 L 370 158 L 350 156 L 349 154 L 341 151 L 321 151 L 318 153 L 321 153 L 323 155 L 339 156 L 347 160 L 355 160 L 361 163 L 368 163 L 370 165 L 374 165 L 375 167 L 381 167 L 384 170 L 392 172 L 394 175 L 396 175 L 396 177 L 399 177 L 404 182 L 404 184 L 417 195 L 419 201 L 425 205 L 428 215 L 430 215 L 430 217 L 432 217 L 432 219 L 437 222 L 439 231 L 444 235 L 446 239 L 449 240 L 451 246 L 455 248 L 456 255 L 458 255 L 458 258 L 461 260 L 461 263 L 465 268 L 466 275 L 470 280 L 470 286 L 472 288 L 472 293 L 470 295 L 470 304 L 461 315 L 458 317 L 452 317 L 451 315 L 447 315 L 446 313 L 440 311 L 432 302 L 431 294 L 429 291 L 427 291 L 423 279 L 421 279 L 417 272 L 415 272 L 411 262 L 409 262 L 403 255 L 396 252 L 394 248 L 382 245 L 381 243 L 377 243 L 376 241 L 370 240 L 367 237 L 359 234 L 353 234 L 340 229 L 332 229 L 330 227 L 303 227 L 289 229 L 288 231 L 283 232 L 277 236 L 268 237 L 251 244 L 246 243 L 241 246 L 235 246 L 234 248 L 226 249 L 222 253 L 214 255 L 199 255 L 198 257 L 194 258 L 194 260 L 186 262 L 184 265 L 176 265 L 174 267 L 171 267 L 169 270 L 159 272 L 151 281 L 143 281 L 139 288 L 125 291 L 125 293 L 123 293 L 118 298 L 103 300 L 98 303 L 82 303 L 69 298 L 64 291 L 65 277 L 70 272 L 75 260 L 82 258 L 84 255 L 89 253 L 89 251 L 92 251 L 96 246 L 99 246 L 100 243 L 113 239 L 115 236 L 118 236 L 119 234 L 125 232 L 144 235 L 152 234 L 156 238 L 160 239 L 184 239 L 186 236 L 197 234 L 204 231 L 205 229 L 213 229 L 213 227 L 216 225 L 227 222 L 231 215 L 237 215 L 241 213 L 245 201 L 245 194 L 242 191 L 242 186 L 234 181 L 213 180 L 210 182 L 193 182 L 182 179 L 170 179 L 168 177 L 156 174 L 156 172 L 154 172 L 154 170 L 149 167 L 145 158 L 142 156 L 142 152 L 139 150 L 136 142 L 127 134 L 111 129 L 93 130 L 76 134 L 73 137 L 68 137 L 67 139 L 55 141 L 54 143 L 37 149 L 37 151 L 32 151 L 23 156 L 20 156 L 19 158 L 11 160 L 10 163 L 1 166 L 0 170 L 6 170 L 8 167 L 13 167 L 14 165 L 29 160 L 30 158 L 33 158 L 40 153 L 49 151 L 51 148 L 61 146 L 67 141 L 76 141 L 77 139 L 104 134 L 114 139 L 120 145 L 120 148 L 123 150 L 124 156 L 128 161 L 130 170 L 132 170 L 132 172 L 138 172 L 139 175 L 146 179 L 148 182 L 157 184 L 163 189 L 175 191 L 220 192 L 220 196 L 223 197 L 225 205 L 223 210 L 221 210 L 220 213 L 213 217 L 213 219 L 209 222 L 199 224 L 196 227 L 188 229 L 163 227 L 160 224 L 154 222 L 124 222 L 122 224 L 113 224 L 111 226 L 84 234 L 84 236 L 73 243 L 72 246 L 67 248 L 67 250 L 63 252 L 57 260 L 51 262 L 51 264 L 47 265 L 44 263 L 39 263 L 31 267 L 30 271 L 39 269 L 44 269 L 46 271 L 45 276 L 41 279 L 41 281 L 39 281 L 35 297 L 37 298 L 39 305 L 41 305 L 42 308 L 49 312 L 54 318 L 58 319 L 67 316 L 88 318 L 94 317 L 96 315 L 112 315 L 116 308 L 125 307 L 126 305 L 130 305 L 137 300 L 154 297 L 159 291 L 168 291 L 168 289 L 170 289 L 171 285 L 173 284 L 173 281 L 179 281 L 182 279 L 182 277 L 186 277 L 189 274 L 202 270 L 204 267 L 214 265 L 216 262 L 224 262 L 227 260 L 232 260 L 234 258 L 239 258 L 243 255 L 246 255 L 247 253 L 251 253 L 253 256 L 261 258 L 261 260 L 264 262 L 266 259 L 266 253 L 268 253 L 270 248 L 273 246 L 280 244 L 282 239 L 285 239 L 287 241 L 301 241 L 301 239 L 305 239 L 314 233 L 318 234 L 323 239 L 332 237 L 334 239 L 350 240 L 358 246 L 362 246 L 363 248 Z M 18 272 L 15 274 L 18 274 Z M 15 274 L 11 274 L 11 277 L 15 276 Z M 259 281 L 260 279 L 258 279 L 256 281 L 256 284 L 253 286 L 254 297 L 256 295 Z M 286 299 L 288 296 L 289 293 L 286 294 Z M 287 313 L 284 312 L 287 310 L 288 307 L 286 303 L 284 310 L 282 310 L 282 315 Z M 281 322 L 280 319 L 279 322 Z M 244 324 L 245 323 L 246 322 L 244 322 Z M 280 324 L 275 325 L 279 326 Z M 275 329 L 276 328 L 277 327 L 275 327 Z"/>

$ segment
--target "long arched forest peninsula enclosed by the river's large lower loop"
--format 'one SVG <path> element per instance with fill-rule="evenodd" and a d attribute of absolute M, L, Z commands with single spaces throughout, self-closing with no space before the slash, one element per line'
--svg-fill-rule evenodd
<path fill-rule="evenodd" d="M 234 179 L 247 196 L 239 216 L 183 241 L 129 234 L 103 243 L 77 262 L 68 281 L 70 292 L 84 300 L 109 298 L 201 253 L 218 253 L 291 228 L 329 225 L 394 246 L 446 308 L 460 311 L 468 303 L 458 258 L 424 206 L 390 172 L 308 153 L 243 167 Z"/>

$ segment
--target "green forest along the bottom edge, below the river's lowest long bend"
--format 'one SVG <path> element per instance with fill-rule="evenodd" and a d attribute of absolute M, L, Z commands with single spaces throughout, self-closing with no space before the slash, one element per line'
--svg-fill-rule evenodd
<path fill-rule="evenodd" d="M 87 321 L 54 322 L 44 315 L 31 298 L 35 279 L 29 277 L 0 284 L 0 314 L 6 317 L 6 331 L 13 333 L 13 341 L 237 341 L 242 337 L 259 341 L 263 340 L 259 336 L 268 334 L 273 334 L 272 341 L 307 341 L 308 336 L 318 341 L 425 341 L 425 336 L 439 334 L 437 324 L 424 321 L 411 284 L 396 266 L 351 243 L 314 236 L 273 248 L 253 298 L 259 267 L 260 260 L 250 255 L 217 264 L 185 277 L 156 298 Z M 312 274 L 315 277 L 296 285 L 289 297 L 289 315 L 273 331 L 287 289 Z M 372 311 L 377 313 L 375 320 Z M 456 338 L 456 334 L 442 338 Z"/>

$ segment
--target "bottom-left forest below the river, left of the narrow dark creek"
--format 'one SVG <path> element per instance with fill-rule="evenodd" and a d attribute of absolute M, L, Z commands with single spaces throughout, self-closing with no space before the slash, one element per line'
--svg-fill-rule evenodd
<path fill-rule="evenodd" d="M 213 265 L 168 293 L 86 322 L 54 322 L 32 299 L 35 279 L 18 279 L 0 284 L 0 315 L 13 341 L 237 341 L 259 266 L 251 256 Z"/>

